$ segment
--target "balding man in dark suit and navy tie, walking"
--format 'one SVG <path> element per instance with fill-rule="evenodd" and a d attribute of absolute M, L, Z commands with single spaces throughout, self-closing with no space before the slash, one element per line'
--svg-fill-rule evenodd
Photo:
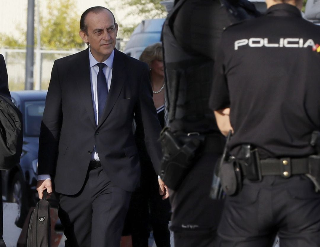
<path fill-rule="evenodd" d="M 131 192 L 140 176 L 133 118 L 137 128 L 144 128 L 149 155 L 160 173 L 160 124 L 148 66 L 115 49 L 117 31 L 110 10 L 86 10 L 79 34 L 89 48 L 56 60 L 52 68 L 37 190 L 39 198 L 52 187 L 60 194 L 66 247 L 120 245 Z M 168 197 L 161 179 L 159 185 L 160 194 Z"/>

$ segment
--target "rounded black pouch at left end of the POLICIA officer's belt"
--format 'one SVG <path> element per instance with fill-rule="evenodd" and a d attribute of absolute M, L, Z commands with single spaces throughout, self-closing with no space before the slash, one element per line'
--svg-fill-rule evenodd
<path fill-rule="evenodd" d="M 242 189 L 242 173 L 236 158 L 230 157 L 222 162 L 219 169 L 222 190 L 229 196 L 235 196 Z"/>

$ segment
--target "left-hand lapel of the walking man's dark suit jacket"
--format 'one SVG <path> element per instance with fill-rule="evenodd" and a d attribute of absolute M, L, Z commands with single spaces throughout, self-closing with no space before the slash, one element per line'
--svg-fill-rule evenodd
<path fill-rule="evenodd" d="M 79 59 L 76 64 L 77 86 L 79 89 L 81 101 L 88 112 L 89 118 L 94 125 L 96 120 L 94 117 L 92 93 L 91 93 L 91 79 L 90 79 L 90 63 L 89 63 L 89 48 L 79 53 Z"/>

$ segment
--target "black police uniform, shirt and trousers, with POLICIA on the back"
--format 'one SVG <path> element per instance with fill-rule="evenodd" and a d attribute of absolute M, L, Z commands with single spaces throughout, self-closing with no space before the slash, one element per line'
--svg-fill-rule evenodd
<path fill-rule="evenodd" d="M 320 27 L 289 4 L 222 34 L 210 107 L 230 107 L 228 146 L 244 180 L 227 196 L 220 246 L 271 246 L 277 232 L 281 247 L 320 246 L 320 193 L 303 175 L 320 129 L 318 44 Z M 257 148 L 260 182 L 245 175 L 244 143 Z"/>

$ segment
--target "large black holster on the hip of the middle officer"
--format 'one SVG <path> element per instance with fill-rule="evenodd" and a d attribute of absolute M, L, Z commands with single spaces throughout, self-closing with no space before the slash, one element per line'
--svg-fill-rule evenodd
<path fill-rule="evenodd" d="M 160 133 L 163 158 L 161 179 L 172 190 L 177 190 L 192 168 L 196 151 L 204 141 L 194 135 L 175 136 L 168 127 Z"/>

